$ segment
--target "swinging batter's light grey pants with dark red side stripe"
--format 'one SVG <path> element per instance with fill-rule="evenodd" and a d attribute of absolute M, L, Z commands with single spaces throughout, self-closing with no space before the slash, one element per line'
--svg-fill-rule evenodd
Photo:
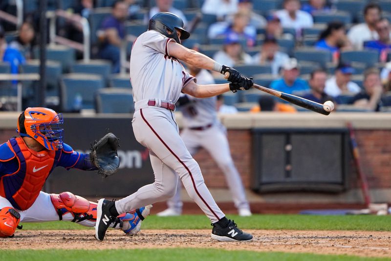
<path fill-rule="evenodd" d="M 132 126 L 136 140 L 150 150 L 155 182 L 116 201 L 119 214 L 173 197 L 179 176 L 189 196 L 212 223 L 225 216 L 206 187 L 198 164 L 180 138 L 171 111 L 160 107 L 139 109 L 133 115 Z"/>

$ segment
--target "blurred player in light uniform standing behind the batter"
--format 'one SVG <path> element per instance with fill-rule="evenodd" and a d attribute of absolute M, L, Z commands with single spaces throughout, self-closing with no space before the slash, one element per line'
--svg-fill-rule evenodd
<path fill-rule="evenodd" d="M 197 84 L 207 85 L 215 83 L 212 74 L 208 71 L 190 65 L 187 67 L 190 74 L 195 75 Z M 249 216 L 251 215 L 250 207 L 239 172 L 231 157 L 226 129 L 217 119 L 216 102 L 216 96 L 199 99 L 190 95 L 181 95 L 176 103 L 181 106 L 185 125 L 180 136 L 192 156 L 201 147 L 209 152 L 217 166 L 225 174 L 239 215 Z M 168 209 L 158 213 L 158 216 L 181 214 L 183 205 L 180 199 L 181 187 L 180 183 L 178 183 L 174 197 L 167 201 Z"/>

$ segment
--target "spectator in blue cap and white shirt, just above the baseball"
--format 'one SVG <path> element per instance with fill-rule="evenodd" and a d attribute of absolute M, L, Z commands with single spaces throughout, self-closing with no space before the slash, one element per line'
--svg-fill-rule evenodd
<path fill-rule="evenodd" d="M 334 76 L 326 81 L 325 93 L 327 95 L 338 97 L 342 94 L 357 94 L 361 88 L 350 81 L 354 69 L 348 63 L 340 63 L 335 69 Z"/>

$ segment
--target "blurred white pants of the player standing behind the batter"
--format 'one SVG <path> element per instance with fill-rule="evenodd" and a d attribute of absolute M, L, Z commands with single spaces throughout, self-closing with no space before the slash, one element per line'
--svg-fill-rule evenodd
<path fill-rule="evenodd" d="M 239 172 L 231 157 L 224 126 L 217 123 L 206 130 L 184 129 L 181 138 L 191 155 L 195 155 L 200 147 L 209 152 L 225 175 L 235 207 L 237 209 L 249 209 Z M 180 199 L 180 190 L 181 186 L 178 184 L 174 197 L 167 201 L 168 207 L 178 212 L 181 212 L 183 205 Z"/>

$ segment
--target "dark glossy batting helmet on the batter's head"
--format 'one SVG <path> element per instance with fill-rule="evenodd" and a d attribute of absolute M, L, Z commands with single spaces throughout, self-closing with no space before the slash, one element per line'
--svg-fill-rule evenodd
<path fill-rule="evenodd" d="M 152 16 L 148 30 L 158 31 L 168 38 L 174 39 L 178 44 L 180 44 L 175 28 L 181 31 L 180 40 L 185 40 L 190 37 L 190 33 L 183 28 L 182 19 L 179 16 L 168 12 L 162 12 Z M 169 34 L 167 29 L 169 29 L 172 33 Z"/>

